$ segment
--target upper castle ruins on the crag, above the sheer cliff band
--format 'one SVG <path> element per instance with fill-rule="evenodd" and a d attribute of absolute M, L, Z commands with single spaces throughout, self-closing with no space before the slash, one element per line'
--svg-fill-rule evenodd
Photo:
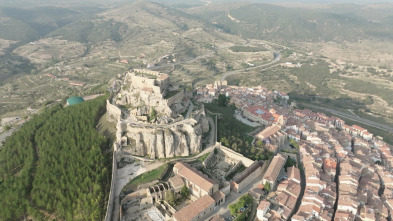
<path fill-rule="evenodd" d="M 171 87 L 167 74 L 134 69 L 126 73 L 115 103 L 126 106 L 134 121 L 168 123 L 186 110 L 189 99 L 182 90 Z M 149 119 L 152 111 L 155 119 Z"/>

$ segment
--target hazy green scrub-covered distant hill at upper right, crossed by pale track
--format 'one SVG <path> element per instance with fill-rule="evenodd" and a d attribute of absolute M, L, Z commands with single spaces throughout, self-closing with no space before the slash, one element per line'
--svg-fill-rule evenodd
<path fill-rule="evenodd" d="M 225 8 L 223 6 L 222 8 Z M 358 8 L 286 8 L 268 4 L 246 4 L 227 11 L 218 5 L 189 10 L 212 22 L 225 32 L 246 38 L 279 42 L 296 41 L 357 41 L 364 37 L 393 39 L 393 28 L 386 17 L 379 22 L 354 14 Z M 364 9 L 366 10 L 366 9 Z M 213 13 L 212 13 L 213 12 Z"/>

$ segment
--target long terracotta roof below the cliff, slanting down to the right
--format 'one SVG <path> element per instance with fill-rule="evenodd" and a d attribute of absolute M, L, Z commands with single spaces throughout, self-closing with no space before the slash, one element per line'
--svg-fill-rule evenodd
<path fill-rule="evenodd" d="M 216 181 L 192 168 L 188 163 L 176 163 L 174 167 L 179 170 L 179 175 L 188 179 L 206 192 L 209 192 L 215 184 L 218 184 Z"/>

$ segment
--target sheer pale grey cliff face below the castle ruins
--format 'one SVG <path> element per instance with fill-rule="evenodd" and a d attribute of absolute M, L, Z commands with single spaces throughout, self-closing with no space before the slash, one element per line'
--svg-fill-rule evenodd
<path fill-rule="evenodd" d="M 189 156 L 201 151 L 202 133 L 202 122 L 194 119 L 165 127 L 128 124 L 123 133 L 128 142 L 122 148 L 131 154 L 150 158 Z"/>

